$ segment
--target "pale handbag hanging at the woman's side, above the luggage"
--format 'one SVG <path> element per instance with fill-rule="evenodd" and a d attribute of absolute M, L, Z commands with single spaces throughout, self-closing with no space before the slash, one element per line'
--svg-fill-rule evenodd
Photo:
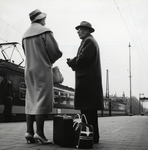
<path fill-rule="evenodd" d="M 59 67 L 55 66 L 52 68 L 53 71 L 53 83 L 62 83 L 64 81 L 64 78 L 59 70 Z"/>

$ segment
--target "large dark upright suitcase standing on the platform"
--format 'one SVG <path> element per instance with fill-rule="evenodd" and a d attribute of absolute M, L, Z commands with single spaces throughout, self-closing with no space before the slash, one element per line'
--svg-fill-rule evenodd
<path fill-rule="evenodd" d="M 63 147 L 75 147 L 73 118 L 56 115 L 53 118 L 53 141 Z"/>

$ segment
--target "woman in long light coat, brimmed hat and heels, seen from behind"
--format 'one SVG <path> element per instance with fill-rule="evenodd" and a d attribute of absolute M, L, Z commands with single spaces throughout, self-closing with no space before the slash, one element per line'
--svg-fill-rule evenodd
<path fill-rule="evenodd" d="M 57 61 L 62 52 L 52 35 L 46 28 L 46 14 L 36 9 L 29 14 L 32 22 L 25 32 L 22 45 L 26 56 L 25 82 L 26 99 L 25 113 L 27 121 L 27 142 L 35 141 L 50 144 L 44 134 L 45 115 L 53 108 L 53 72 L 52 64 Z M 37 131 L 34 134 L 33 122 L 36 119 Z"/>

